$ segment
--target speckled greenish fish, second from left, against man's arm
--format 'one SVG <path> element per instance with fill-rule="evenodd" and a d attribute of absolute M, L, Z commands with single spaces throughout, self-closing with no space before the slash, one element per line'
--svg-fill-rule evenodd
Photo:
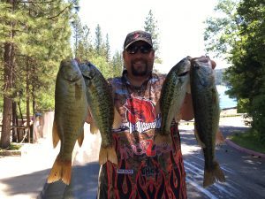
<path fill-rule="evenodd" d="M 102 136 L 99 164 L 103 165 L 109 160 L 117 165 L 117 154 L 111 134 L 115 109 L 110 84 L 90 62 L 81 63 L 79 68 L 86 82 L 88 109 L 92 116 L 90 132 L 96 134 L 100 131 Z"/>

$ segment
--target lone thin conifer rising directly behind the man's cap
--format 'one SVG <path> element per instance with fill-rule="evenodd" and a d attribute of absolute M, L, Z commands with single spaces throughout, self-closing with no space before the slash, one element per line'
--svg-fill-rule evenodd
<path fill-rule="evenodd" d="M 146 18 L 144 23 L 145 31 L 152 35 L 152 41 L 155 50 L 155 63 L 162 63 L 162 60 L 159 57 L 159 28 L 157 26 L 157 20 L 155 20 L 152 10 L 148 12 L 148 17 Z"/>

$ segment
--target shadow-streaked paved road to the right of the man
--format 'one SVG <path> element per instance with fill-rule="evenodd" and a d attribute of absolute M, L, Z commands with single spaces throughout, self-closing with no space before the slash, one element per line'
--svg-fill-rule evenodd
<path fill-rule="evenodd" d="M 265 159 L 252 157 L 230 146 L 216 148 L 216 159 L 225 174 L 225 183 L 202 188 L 204 158 L 195 147 L 193 127 L 181 130 L 188 198 L 265 199 Z M 221 126 L 224 136 L 245 131 L 244 127 Z"/>

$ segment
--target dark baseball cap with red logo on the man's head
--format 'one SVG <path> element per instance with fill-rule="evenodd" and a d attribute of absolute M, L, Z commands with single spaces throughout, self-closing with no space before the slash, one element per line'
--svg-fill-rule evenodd
<path fill-rule="evenodd" d="M 153 48 L 152 36 L 148 32 L 136 30 L 127 34 L 124 43 L 124 49 L 127 49 L 133 42 L 147 42 Z"/>

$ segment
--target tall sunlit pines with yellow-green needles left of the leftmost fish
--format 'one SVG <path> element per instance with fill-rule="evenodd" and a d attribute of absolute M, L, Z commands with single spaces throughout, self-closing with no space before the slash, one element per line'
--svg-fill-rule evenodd
<path fill-rule="evenodd" d="M 70 55 L 72 3 L 7 1 L 0 3 L 0 46 L 4 53 L 1 70 L 4 71 L 3 127 L 0 147 L 10 146 L 12 104 L 26 103 L 29 126 L 30 101 L 32 110 L 42 109 L 42 98 L 50 96 L 48 89 L 54 85 L 58 63 Z M 2 58 L 2 57 L 1 57 Z M 45 92 L 44 92 L 45 91 Z M 17 95 L 19 94 L 19 95 Z M 16 112 L 16 111 L 13 111 Z M 28 137 L 29 141 L 29 137 Z"/>

